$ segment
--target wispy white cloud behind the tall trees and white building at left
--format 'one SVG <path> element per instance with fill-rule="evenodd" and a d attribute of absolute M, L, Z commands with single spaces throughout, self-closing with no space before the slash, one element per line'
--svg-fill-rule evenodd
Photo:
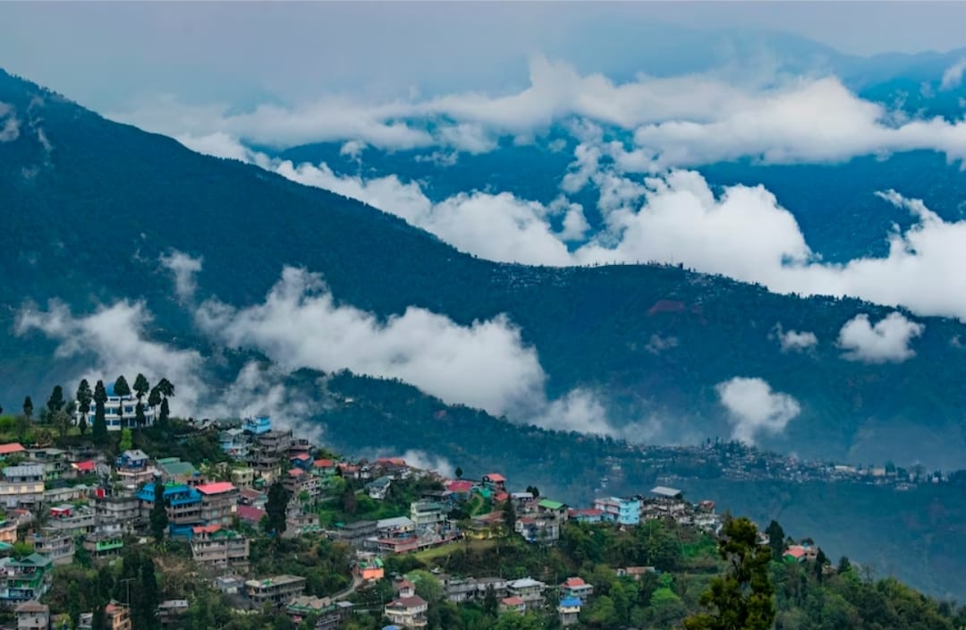
<path fill-rule="evenodd" d="M 19 336 L 37 330 L 59 341 L 55 358 L 95 358 L 91 367 L 77 376 L 78 381 L 102 379 L 106 384 L 124 374 L 128 382 L 133 382 L 133 377 L 142 373 L 155 383 L 164 377 L 176 387 L 172 413 L 194 413 L 205 390 L 200 379 L 202 357 L 196 351 L 174 349 L 148 339 L 146 329 L 151 319 L 143 301 L 118 301 L 79 317 L 74 317 L 63 302 L 50 301 L 45 311 L 21 309 L 14 333 Z"/>

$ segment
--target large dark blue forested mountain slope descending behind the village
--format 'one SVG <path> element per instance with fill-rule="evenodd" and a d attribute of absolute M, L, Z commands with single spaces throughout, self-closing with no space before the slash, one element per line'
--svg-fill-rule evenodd
<path fill-rule="evenodd" d="M 192 320 L 156 262 L 174 248 L 203 256 L 200 296 L 237 306 L 264 301 L 289 265 L 321 272 L 336 301 L 379 318 L 411 305 L 463 326 L 505 313 L 536 350 L 551 399 L 575 387 L 597 391 L 615 425 L 648 421 L 641 439 L 726 437 L 715 386 L 760 377 L 802 409 L 783 434 L 764 436 L 765 446 L 966 466 L 964 358 L 950 345 L 966 327 L 956 322 L 920 320 L 916 356 L 903 363 L 843 360 L 835 345 L 842 325 L 891 309 L 779 296 L 671 267 L 498 265 L 354 201 L 111 123 L 7 74 L 0 101 L 22 119 L 18 136 L 0 143 L 5 330 L 26 301 L 59 299 L 86 313 L 143 299 L 151 333 L 184 342 L 195 334 Z M 652 308 L 659 303 L 671 307 Z M 813 331 L 819 346 L 782 353 L 780 324 Z M 655 348 L 655 339 L 673 342 Z M 82 360 L 50 361 L 54 346 L 39 334 L 0 343 L 8 407 L 72 376 Z"/>

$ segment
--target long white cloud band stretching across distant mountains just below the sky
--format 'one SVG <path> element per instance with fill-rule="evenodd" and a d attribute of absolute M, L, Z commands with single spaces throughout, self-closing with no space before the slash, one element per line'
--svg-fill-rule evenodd
<path fill-rule="evenodd" d="M 960 64 L 946 72 L 944 85 L 961 77 Z M 530 60 L 529 85 L 510 94 L 382 102 L 325 97 L 241 113 L 161 97 L 111 117 L 179 138 L 214 141 L 213 134 L 223 133 L 262 146 L 335 141 L 473 154 L 494 150 L 500 137 L 533 138 L 556 124 L 590 121 L 633 132 L 623 167 L 648 173 L 741 157 L 826 162 L 915 150 L 966 157 L 966 121 L 910 118 L 858 97 L 835 76 L 765 72 L 742 84 L 719 72 L 618 83 L 543 56 Z"/>

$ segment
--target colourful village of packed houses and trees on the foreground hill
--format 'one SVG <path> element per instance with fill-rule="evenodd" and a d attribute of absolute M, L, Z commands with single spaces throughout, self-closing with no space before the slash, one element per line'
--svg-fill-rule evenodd
<path fill-rule="evenodd" d="M 567 505 L 498 471 L 340 457 L 266 415 L 170 417 L 174 386 L 146 386 L 0 418 L 0 627 L 662 628 L 722 569 L 727 517 L 673 487 Z M 774 522 L 758 544 L 850 571 Z"/>

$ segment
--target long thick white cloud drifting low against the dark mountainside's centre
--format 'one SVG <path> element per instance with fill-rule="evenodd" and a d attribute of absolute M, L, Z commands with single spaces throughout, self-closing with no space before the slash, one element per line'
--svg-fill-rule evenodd
<path fill-rule="evenodd" d="M 543 390 L 536 351 L 505 317 L 462 327 L 422 308 L 377 319 L 337 305 L 318 274 L 286 268 L 266 301 L 235 309 L 206 301 L 202 330 L 230 347 L 258 348 L 287 369 L 349 368 L 398 378 L 439 396 L 503 415 Z"/>

